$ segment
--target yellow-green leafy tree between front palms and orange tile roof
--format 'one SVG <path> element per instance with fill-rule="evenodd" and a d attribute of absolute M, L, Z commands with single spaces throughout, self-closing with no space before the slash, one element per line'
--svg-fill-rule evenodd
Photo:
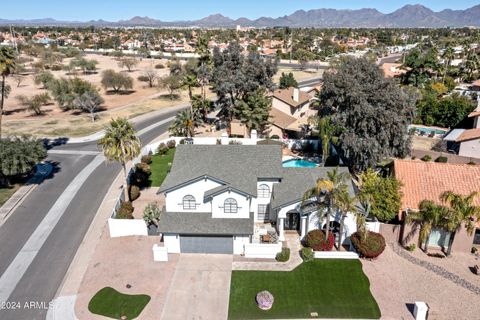
<path fill-rule="evenodd" d="M 373 169 L 358 176 L 359 197 L 371 205 L 370 213 L 382 222 L 388 222 L 400 211 L 400 182 L 394 177 L 382 177 Z"/>

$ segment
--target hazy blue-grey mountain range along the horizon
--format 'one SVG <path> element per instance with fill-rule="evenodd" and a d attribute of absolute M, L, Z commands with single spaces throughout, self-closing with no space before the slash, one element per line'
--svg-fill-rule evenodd
<path fill-rule="evenodd" d="M 0 19 L 0 25 L 26 26 L 89 26 L 100 27 L 201 27 L 233 28 L 242 27 L 315 27 L 315 28 L 441 28 L 441 27 L 480 27 L 480 5 L 465 10 L 445 9 L 434 12 L 422 5 L 406 5 L 392 13 L 384 14 L 376 9 L 298 10 L 291 15 L 255 20 L 239 18 L 233 20 L 221 14 L 214 14 L 200 20 L 165 22 L 149 17 L 133 17 L 129 20 L 109 22 L 91 20 L 86 22 L 59 21 L 52 18 L 34 20 Z"/>

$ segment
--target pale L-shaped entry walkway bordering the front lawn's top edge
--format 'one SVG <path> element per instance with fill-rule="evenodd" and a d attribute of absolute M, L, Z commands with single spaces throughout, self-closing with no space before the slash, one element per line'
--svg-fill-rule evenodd
<path fill-rule="evenodd" d="M 234 261 L 232 263 L 233 270 L 260 270 L 260 271 L 292 271 L 299 266 L 303 260 L 300 256 L 302 244 L 298 234 L 285 233 L 284 247 L 290 248 L 290 259 L 287 262 L 265 261 L 260 259 L 255 261 L 249 259 L 248 261 Z"/>

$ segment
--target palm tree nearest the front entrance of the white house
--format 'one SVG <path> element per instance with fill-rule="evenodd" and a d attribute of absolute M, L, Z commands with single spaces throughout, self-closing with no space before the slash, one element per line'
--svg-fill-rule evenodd
<path fill-rule="evenodd" d="M 335 208 L 338 208 L 336 200 L 342 192 L 347 190 L 345 180 L 347 172 L 338 173 L 338 168 L 327 172 L 327 178 L 318 179 L 315 187 L 307 190 L 303 195 L 302 204 L 313 200 L 319 207 L 317 215 L 320 221 L 326 219 L 325 239 L 328 239 L 330 232 L 330 216 Z M 347 191 L 348 192 L 348 191 Z M 325 214 L 326 211 L 326 214 Z"/>

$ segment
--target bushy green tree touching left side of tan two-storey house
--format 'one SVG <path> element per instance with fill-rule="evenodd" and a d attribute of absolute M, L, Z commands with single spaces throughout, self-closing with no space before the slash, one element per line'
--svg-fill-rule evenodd
<path fill-rule="evenodd" d="M 237 100 L 234 108 L 234 117 L 239 119 L 251 132 L 253 129 L 258 133 L 265 133 L 269 125 L 270 109 L 272 100 L 265 93 L 264 89 L 247 95 L 244 100 Z"/>

